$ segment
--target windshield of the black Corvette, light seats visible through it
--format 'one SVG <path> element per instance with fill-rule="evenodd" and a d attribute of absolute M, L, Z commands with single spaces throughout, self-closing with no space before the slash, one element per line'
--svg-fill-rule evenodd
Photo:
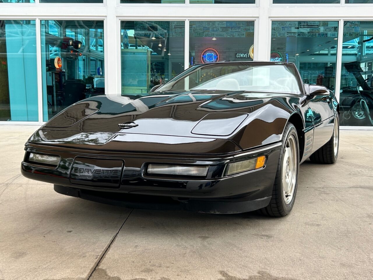
<path fill-rule="evenodd" d="M 156 91 L 260 91 L 300 94 L 300 81 L 292 64 L 215 63 L 195 65 Z"/>

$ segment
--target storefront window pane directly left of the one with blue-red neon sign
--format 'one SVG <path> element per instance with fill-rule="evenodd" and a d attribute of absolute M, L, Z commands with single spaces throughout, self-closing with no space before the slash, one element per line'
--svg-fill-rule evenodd
<path fill-rule="evenodd" d="M 184 70 L 184 21 L 122 21 L 122 95 L 146 94 Z"/>

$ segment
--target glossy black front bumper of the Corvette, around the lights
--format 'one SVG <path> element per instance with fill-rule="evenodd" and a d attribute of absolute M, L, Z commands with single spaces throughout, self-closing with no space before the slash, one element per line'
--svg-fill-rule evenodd
<path fill-rule="evenodd" d="M 100 197 L 101 200 L 109 200 L 109 198 L 110 200 L 113 200 L 113 197 L 117 197 L 114 200 L 119 203 L 120 201 L 126 200 L 129 196 L 123 196 L 118 199 L 118 193 L 127 193 L 131 195 L 153 196 L 153 198 L 154 196 L 173 197 L 175 201 L 182 201 L 183 204 L 187 201 L 189 205 L 188 207 L 195 209 L 203 208 L 201 205 L 205 205 L 206 207 L 211 206 L 209 205 L 210 202 L 214 202 L 216 205 L 216 203 L 219 204 L 219 202 L 224 204 L 229 202 L 241 203 L 249 201 L 252 202 L 252 206 L 257 204 L 256 207 L 261 208 L 269 203 L 270 197 L 272 196 L 273 182 L 276 176 L 281 144 L 282 143 L 279 142 L 250 151 L 241 151 L 211 158 L 206 155 L 97 152 L 95 150 L 53 147 L 27 143 L 25 148 L 25 160 L 22 162 L 21 171 L 27 178 L 54 184 L 57 192 L 67 195 L 73 193 L 73 196 L 85 199 L 90 197 L 90 200 L 95 201 Z M 29 152 L 59 155 L 61 161 L 57 168 L 47 168 L 45 166 L 35 165 L 26 161 Z M 219 172 L 221 172 L 229 162 L 236 161 L 237 159 L 244 160 L 254 158 L 261 155 L 266 155 L 267 157 L 266 165 L 263 168 L 243 172 L 241 174 L 219 177 L 219 174 L 223 174 Z M 77 157 L 123 161 L 124 164 L 119 186 L 103 187 L 97 182 L 93 186 L 90 183 L 77 183 L 75 180 L 71 180 L 72 165 L 74 159 Z M 211 169 L 211 172 L 209 171 L 206 178 L 150 177 L 144 174 L 144 165 L 149 162 L 209 165 L 213 168 Z M 62 186 L 68 188 L 63 189 Z M 109 197 L 109 193 L 111 193 L 111 197 Z M 256 200 L 257 203 L 254 203 Z M 195 206 L 192 206 L 193 203 Z M 263 203 L 266 205 L 262 206 Z M 232 203 L 228 205 L 231 204 Z M 224 212 L 227 212 L 225 211 L 225 206 L 222 206 L 222 208 Z M 249 209 L 247 211 L 254 210 L 251 208 L 252 207 L 249 206 L 243 207 L 242 209 Z M 211 209 L 214 209 L 214 207 Z"/>

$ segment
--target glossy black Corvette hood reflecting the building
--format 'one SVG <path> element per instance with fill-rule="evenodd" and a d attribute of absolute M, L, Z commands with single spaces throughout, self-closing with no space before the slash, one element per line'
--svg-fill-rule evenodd
<path fill-rule="evenodd" d="M 297 98 L 294 94 L 211 90 L 159 92 L 138 98 L 108 94 L 70 106 L 43 129 L 219 138 L 239 143 L 237 137 L 247 134 L 248 125 L 254 124 L 250 133 L 261 128 L 263 136 L 244 146 L 260 146 L 270 143 L 271 139 L 265 140 L 273 134 L 282 133 L 292 111 L 291 99 Z M 125 122 L 137 126 L 118 126 Z M 272 125 L 269 128 L 264 123 Z"/>

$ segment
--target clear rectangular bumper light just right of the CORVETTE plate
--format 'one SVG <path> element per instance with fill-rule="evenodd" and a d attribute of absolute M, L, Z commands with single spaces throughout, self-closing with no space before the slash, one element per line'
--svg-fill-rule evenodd
<path fill-rule="evenodd" d="M 206 176 L 208 169 L 208 166 L 198 165 L 149 164 L 147 173 L 173 176 Z"/>

